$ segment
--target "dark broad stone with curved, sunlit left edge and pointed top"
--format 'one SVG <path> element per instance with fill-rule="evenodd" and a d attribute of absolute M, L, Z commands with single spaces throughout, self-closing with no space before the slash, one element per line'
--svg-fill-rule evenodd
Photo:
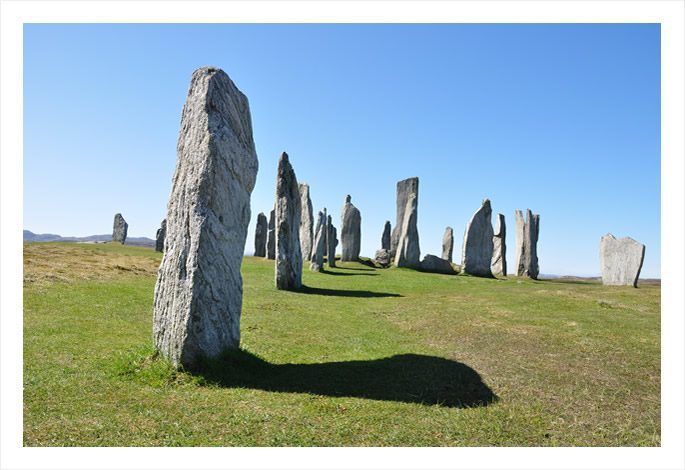
<path fill-rule="evenodd" d="M 473 276 L 492 277 L 492 208 L 490 199 L 483 199 L 464 231 L 462 271 Z"/>

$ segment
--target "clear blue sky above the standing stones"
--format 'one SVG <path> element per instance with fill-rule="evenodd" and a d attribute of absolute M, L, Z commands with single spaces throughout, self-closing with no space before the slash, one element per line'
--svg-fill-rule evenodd
<path fill-rule="evenodd" d="M 647 246 L 660 276 L 660 30 L 597 25 L 26 25 L 24 228 L 154 237 L 165 217 L 192 71 L 248 96 L 259 157 L 254 222 L 287 151 L 315 210 L 362 214 L 362 255 L 420 178 L 422 256 L 483 198 L 540 214 L 542 273 L 596 275 L 607 232 Z M 494 220 L 494 219 L 493 219 Z"/>

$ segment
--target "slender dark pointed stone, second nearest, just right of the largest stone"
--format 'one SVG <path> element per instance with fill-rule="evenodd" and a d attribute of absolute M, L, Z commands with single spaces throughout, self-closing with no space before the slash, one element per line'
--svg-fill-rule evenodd
<path fill-rule="evenodd" d="M 276 176 L 276 288 L 297 290 L 302 287 L 302 251 L 300 250 L 300 190 L 288 154 L 278 161 Z"/>

